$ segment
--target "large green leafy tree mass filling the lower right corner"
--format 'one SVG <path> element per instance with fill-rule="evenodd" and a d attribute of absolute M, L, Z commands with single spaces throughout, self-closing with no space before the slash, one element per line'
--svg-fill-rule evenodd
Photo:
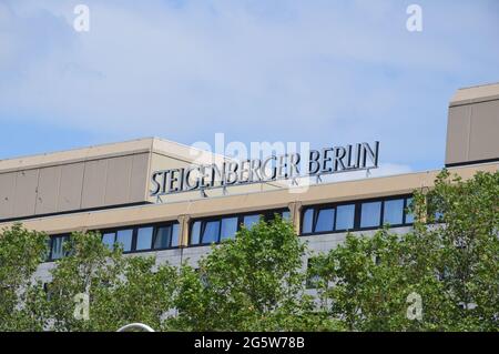
<path fill-rule="evenodd" d="M 444 170 L 415 191 L 414 230 L 347 235 L 320 255 L 322 311 L 352 331 L 497 331 L 499 172 L 462 181 Z M 421 300 L 421 316 L 407 312 Z"/>

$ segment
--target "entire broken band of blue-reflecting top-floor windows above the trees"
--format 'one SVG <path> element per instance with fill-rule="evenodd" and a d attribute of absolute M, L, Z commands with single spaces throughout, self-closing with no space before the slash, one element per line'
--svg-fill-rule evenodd
<path fill-rule="evenodd" d="M 407 209 L 411 196 L 395 196 L 349 203 L 307 206 L 302 213 L 302 235 L 377 229 L 383 224 L 400 226 L 411 224 L 414 218 Z M 259 219 L 269 221 L 279 214 L 289 220 L 288 210 L 272 210 L 194 220 L 191 223 L 190 245 L 207 245 L 233 239 L 243 227 L 251 229 Z M 174 249 L 180 245 L 177 222 L 154 225 L 103 230 L 102 242 L 110 249 L 121 245 L 123 252 L 144 252 Z M 50 239 L 49 260 L 64 256 L 63 244 L 68 234 Z"/>

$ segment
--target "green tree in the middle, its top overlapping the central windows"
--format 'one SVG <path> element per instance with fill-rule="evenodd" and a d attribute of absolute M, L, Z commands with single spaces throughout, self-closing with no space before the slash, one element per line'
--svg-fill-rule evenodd
<path fill-rule="evenodd" d="M 278 215 L 243 227 L 180 274 L 175 324 L 189 331 L 281 331 L 310 325 L 306 245 Z"/>

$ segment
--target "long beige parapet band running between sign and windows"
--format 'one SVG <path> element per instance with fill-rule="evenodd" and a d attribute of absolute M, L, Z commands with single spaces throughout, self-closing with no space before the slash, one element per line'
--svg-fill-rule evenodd
<path fill-rule="evenodd" d="M 492 172 L 497 170 L 499 170 L 499 163 L 488 163 L 455 168 L 451 169 L 451 172 L 458 173 L 464 179 L 468 179 L 477 171 Z M 160 221 L 173 221 L 177 220 L 181 215 L 201 218 L 288 208 L 289 204 L 294 202 L 297 202 L 298 205 L 309 205 L 406 194 L 416 189 L 431 188 L 438 172 L 439 171 L 427 171 L 385 178 L 369 178 L 357 181 L 317 184 L 304 190 L 303 193 L 292 193 L 289 190 L 274 190 L 165 204 L 145 204 L 54 215 L 26 220 L 23 221 L 23 224 L 31 230 L 58 234 L 71 231 L 99 230 Z M 0 229 L 9 225 L 11 225 L 11 223 L 0 223 Z"/>

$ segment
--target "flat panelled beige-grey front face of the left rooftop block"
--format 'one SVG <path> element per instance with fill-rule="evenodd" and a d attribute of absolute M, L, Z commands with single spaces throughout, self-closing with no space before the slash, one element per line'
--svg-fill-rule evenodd
<path fill-rule="evenodd" d="M 145 201 L 149 153 L 0 173 L 0 219 Z"/>

